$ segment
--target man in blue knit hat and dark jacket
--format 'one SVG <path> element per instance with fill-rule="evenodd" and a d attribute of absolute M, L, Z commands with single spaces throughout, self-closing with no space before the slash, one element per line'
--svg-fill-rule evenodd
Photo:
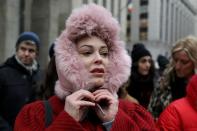
<path fill-rule="evenodd" d="M 0 116 L 11 128 L 16 115 L 36 99 L 41 72 L 36 60 L 40 39 L 33 32 L 23 32 L 16 41 L 16 52 L 0 66 Z"/>

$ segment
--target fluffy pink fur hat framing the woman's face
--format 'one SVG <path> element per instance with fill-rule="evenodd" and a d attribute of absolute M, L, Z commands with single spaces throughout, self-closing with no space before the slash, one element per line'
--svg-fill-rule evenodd
<path fill-rule="evenodd" d="M 117 93 L 130 75 L 131 58 L 124 42 L 119 38 L 120 27 L 116 19 L 104 7 L 89 4 L 75 9 L 66 21 L 66 27 L 55 43 L 55 57 L 59 81 L 55 85 L 58 97 L 80 90 L 90 89 L 88 72 L 79 60 L 76 40 L 84 36 L 97 36 L 109 47 L 109 61 L 105 84 L 101 88 Z"/>

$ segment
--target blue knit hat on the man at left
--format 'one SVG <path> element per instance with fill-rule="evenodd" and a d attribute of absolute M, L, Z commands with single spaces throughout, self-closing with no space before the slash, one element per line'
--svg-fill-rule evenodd
<path fill-rule="evenodd" d="M 27 40 L 33 41 L 36 44 L 37 48 L 39 48 L 40 39 L 39 39 L 38 35 L 35 34 L 34 32 L 23 32 L 22 34 L 20 34 L 20 36 L 16 42 L 16 47 L 18 47 L 18 45 L 21 42 L 27 41 Z"/>

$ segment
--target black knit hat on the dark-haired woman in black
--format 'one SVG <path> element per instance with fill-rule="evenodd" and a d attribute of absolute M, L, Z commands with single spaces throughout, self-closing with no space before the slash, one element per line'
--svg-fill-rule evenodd
<path fill-rule="evenodd" d="M 151 56 L 146 47 L 142 43 L 134 44 L 133 50 L 131 51 L 132 62 L 136 63 L 140 58 L 144 56 Z"/>

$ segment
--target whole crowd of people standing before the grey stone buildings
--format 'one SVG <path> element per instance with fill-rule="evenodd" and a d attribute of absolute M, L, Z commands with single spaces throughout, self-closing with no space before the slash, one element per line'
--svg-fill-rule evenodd
<path fill-rule="evenodd" d="M 40 44 L 21 33 L 0 65 L 0 131 L 197 130 L 196 37 L 158 55 L 156 69 L 143 43 L 129 54 L 117 20 L 88 4 L 66 20 L 45 72 Z"/>

